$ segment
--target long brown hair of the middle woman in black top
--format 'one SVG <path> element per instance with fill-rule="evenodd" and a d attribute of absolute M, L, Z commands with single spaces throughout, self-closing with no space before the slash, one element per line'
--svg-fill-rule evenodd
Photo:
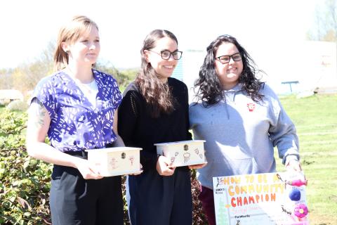
<path fill-rule="evenodd" d="M 153 49 L 156 46 L 156 41 L 163 37 L 173 39 L 178 45 L 178 40 L 172 32 L 168 30 L 152 30 L 145 38 L 143 48 L 140 50 L 142 64 L 136 77 L 136 84 L 138 84 L 140 93 L 150 106 L 148 109 L 152 117 L 159 117 L 160 113 L 172 113 L 174 110 L 174 99 L 169 85 L 163 84 L 159 80 L 159 75 L 151 64 L 147 63 L 144 53 L 145 50 Z"/>

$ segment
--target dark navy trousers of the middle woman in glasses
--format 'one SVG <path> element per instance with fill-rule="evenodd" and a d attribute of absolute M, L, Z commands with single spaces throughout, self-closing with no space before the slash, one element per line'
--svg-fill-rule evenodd
<path fill-rule="evenodd" d="M 191 225 L 190 169 L 177 167 L 172 176 L 150 169 L 128 176 L 132 225 Z"/>

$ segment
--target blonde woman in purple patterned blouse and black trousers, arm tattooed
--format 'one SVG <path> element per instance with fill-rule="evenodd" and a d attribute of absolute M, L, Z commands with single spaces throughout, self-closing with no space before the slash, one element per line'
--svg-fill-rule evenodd
<path fill-rule="evenodd" d="M 93 69 L 99 53 L 98 26 L 86 16 L 74 17 L 58 35 L 58 71 L 37 84 L 29 107 L 27 151 L 54 165 L 53 225 L 123 224 L 121 177 L 100 176 L 86 153 L 122 143 L 116 113 L 121 93 L 111 75 Z"/>

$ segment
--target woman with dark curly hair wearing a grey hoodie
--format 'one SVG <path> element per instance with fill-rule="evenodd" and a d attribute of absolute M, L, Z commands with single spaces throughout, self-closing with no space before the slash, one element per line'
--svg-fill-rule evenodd
<path fill-rule="evenodd" d="M 216 224 L 212 178 L 275 172 L 274 146 L 287 169 L 300 171 L 298 136 L 277 95 L 256 78 L 249 53 L 230 35 L 207 47 L 190 105 L 194 139 L 206 140 L 206 167 L 198 170 L 199 198 Z"/>

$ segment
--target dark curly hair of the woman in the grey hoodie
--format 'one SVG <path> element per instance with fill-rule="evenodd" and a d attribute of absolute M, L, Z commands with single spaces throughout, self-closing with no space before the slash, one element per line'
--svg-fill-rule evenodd
<path fill-rule="evenodd" d="M 242 84 L 242 91 L 245 91 L 253 101 L 261 101 L 263 99 L 263 94 L 259 94 L 258 91 L 260 90 L 260 86 L 264 83 L 256 78 L 256 72 L 263 71 L 255 69 L 256 64 L 251 56 L 249 56 L 249 53 L 247 53 L 239 42 L 237 42 L 237 39 L 230 35 L 219 36 L 207 47 L 204 63 L 199 70 L 199 79 L 194 82 L 194 90 L 199 87 L 196 94 L 197 99 L 201 100 L 204 105 L 209 106 L 218 103 L 225 97 L 223 96 L 223 85 L 218 79 L 215 68 L 216 51 L 223 43 L 234 44 L 242 56 L 244 68 L 242 74 L 239 76 L 239 84 Z"/>

